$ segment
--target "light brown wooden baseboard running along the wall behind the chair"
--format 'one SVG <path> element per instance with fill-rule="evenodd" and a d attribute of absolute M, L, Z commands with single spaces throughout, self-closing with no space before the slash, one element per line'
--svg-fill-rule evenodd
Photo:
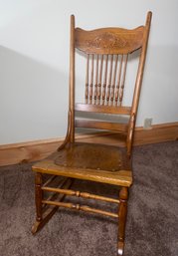
<path fill-rule="evenodd" d="M 116 133 L 94 133 L 78 135 L 79 141 L 104 142 L 108 144 L 121 145 Z M 136 128 L 134 134 L 134 145 L 158 143 L 178 139 L 178 122 L 152 126 L 151 129 Z M 0 166 L 22 162 L 36 161 L 45 158 L 55 151 L 64 138 L 44 139 L 23 143 L 0 145 Z"/>

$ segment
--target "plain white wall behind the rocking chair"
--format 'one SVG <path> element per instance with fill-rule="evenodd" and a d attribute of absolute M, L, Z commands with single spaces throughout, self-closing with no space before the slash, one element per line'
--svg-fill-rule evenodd
<path fill-rule="evenodd" d="M 178 121 L 177 0 L 0 0 L 0 143 L 64 136 L 70 15 L 86 29 L 136 27 L 153 12 L 137 117 Z"/>

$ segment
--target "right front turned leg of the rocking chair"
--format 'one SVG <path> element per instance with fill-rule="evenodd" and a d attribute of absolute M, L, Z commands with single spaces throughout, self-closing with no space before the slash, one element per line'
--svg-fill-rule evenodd
<path fill-rule="evenodd" d="M 118 209 L 118 251 L 117 255 L 123 255 L 124 249 L 124 236 L 125 236 L 125 224 L 126 224 L 126 213 L 127 213 L 127 199 L 128 199 L 128 188 L 121 187 L 119 192 L 119 209 Z"/>

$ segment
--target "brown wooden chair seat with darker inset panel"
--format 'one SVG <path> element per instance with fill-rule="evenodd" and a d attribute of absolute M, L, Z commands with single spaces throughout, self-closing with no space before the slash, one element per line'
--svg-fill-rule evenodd
<path fill-rule="evenodd" d="M 132 183 L 129 157 L 122 149 L 112 145 L 69 143 L 36 163 L 32 169 L 120 186 L 130 186 Z"/>

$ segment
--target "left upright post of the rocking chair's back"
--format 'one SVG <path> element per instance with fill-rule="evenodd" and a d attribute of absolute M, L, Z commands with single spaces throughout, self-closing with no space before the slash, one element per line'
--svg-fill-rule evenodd
<path fill-rule="evenodd" d="M 71 15 L 71 40 L 70 40 L 70 85 L 69 85 L 69 136 L 70 141 L 75 141 L 75 16 Z"/>

